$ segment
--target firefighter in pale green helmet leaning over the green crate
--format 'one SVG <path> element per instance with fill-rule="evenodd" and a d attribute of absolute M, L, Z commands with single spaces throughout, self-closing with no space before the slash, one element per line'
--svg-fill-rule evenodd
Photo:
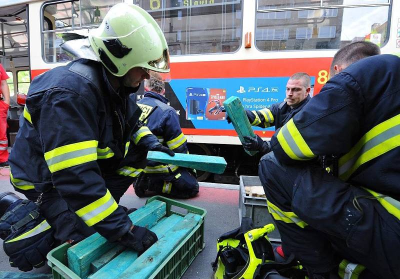
<path fill-rule="evenodd" d="M 58 243 L 97 231 L 141 252 L 157 237 L 132 224 L 117 202 L 145 167 L 147 150 L 173 151 L 140 123 L 129 93 L 153 71 L 169 72 L 165 38 L 146 11 L 120 3 L 88 38 L 64 44 L 89 59 L 33 79 L 9 158 L 11 183 L 31 200 L 42 193 L 40 212 Z M 45 259 L 45 251 L 24 256 L 40 254 Z"/>

